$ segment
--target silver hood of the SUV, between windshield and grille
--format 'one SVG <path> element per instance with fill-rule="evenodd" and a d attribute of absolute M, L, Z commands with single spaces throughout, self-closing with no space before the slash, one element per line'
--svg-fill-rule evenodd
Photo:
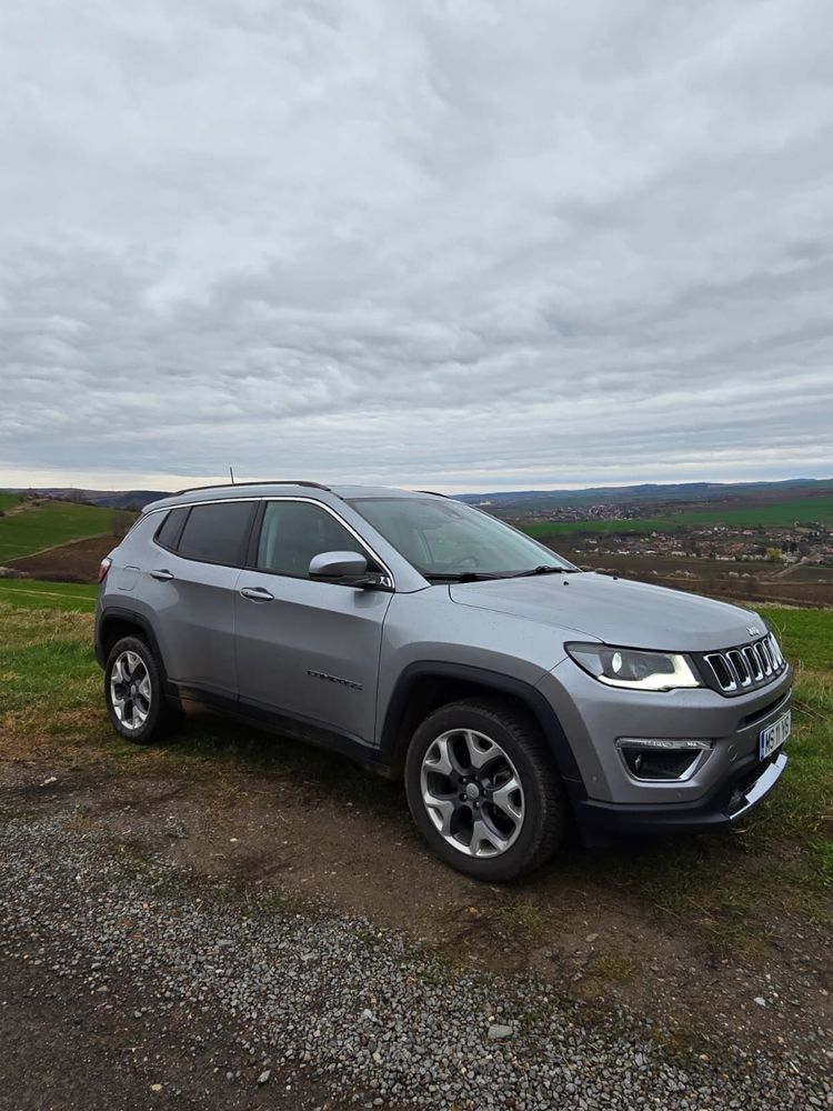
<path fill-rule="evenodd" d="M 739 605 L 592 572 L 453 583 L 450 593 L 461 605 L 552 624 L 568 639 L 576 633 L 628 648 L 703 652 L 766 631 L 756 613 Z"/>

